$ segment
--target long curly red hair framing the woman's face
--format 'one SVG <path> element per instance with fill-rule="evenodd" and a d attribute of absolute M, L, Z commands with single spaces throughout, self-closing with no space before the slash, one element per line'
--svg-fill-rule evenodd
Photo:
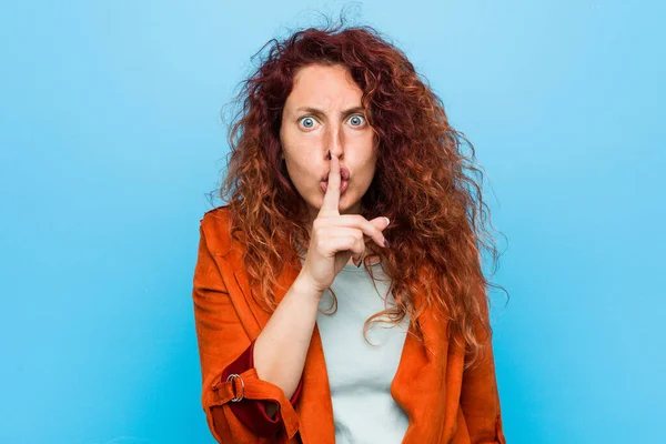
<path fill-rule="evenodd" d="M 482 251 L 491 253 L 495 266 L 498 254 L 486 228 L 490 210 L 474 147 L 448 124 L 442 101 L 406 56 L 371 27 L 309 28 L 283 41 L 272 39 L 258 54 L 266 47 L 236 98 L 242 107 L 230 124 L 229 170 L 220 189 L 229 202 L 232 235 L 246 246 L 244 265 L 260 289 L 254 297 L 272 312 L 275 276 L 285 262 L 297 263 L 296 242 L 310 242 L 304 200 L 280 157 L 282 109 L 294 73 L 312 63 L 342 64 L 363 91 L 379 150 L 362 214 L 391 219 L 384 231 L 391 246 L 377 249 L 370 240 L 366 246 L 391 276 L 395 307 L 370 317 L 364 331 L 382 315 L 397 323 L 408 314 L 422 340 L 415 321 L 423 310 L 433 310 L 446 317 L 455 345 L 473 355 L 471 365 L 481 336 L 492 334 L 486 287 L 501 287 L 482 272 Z M 414 303 L 417 282 L 426 289 L 420 306 Z"/>

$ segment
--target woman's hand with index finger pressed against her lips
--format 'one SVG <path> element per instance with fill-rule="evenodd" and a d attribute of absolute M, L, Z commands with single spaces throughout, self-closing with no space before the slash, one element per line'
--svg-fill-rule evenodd
<path fill-rule="evenodd" d="M 324 202 L 312 223 L 310 246 L 300 274 L 319 293 L 331 286 L 351 256 L 356 263 L 363 260 L 365 236 L 380 246 L 387 246 L 382 233 L 390 223 L 387 218 L 369 221 L 361 214 L 340 214 L 340 160 L 331 154 Z"/>

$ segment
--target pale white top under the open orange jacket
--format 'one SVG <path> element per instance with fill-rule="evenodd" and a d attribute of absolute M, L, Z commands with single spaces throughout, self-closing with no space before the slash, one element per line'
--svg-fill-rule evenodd
<path fill-rule="evenodd" d="M 301 262 L 304 262 L 301 259 Z M 405 342 L 408 317 L 397 326 L 373 323 L 363 337 L 363 324 L 384 310 L 389 278 L 372 265 L 377 289 L 363 266 L 347 264 L 322 295 L 316 323 L 322 337 L 335 422 L 336 444 L 401 443 L 408 425 L 404 411 L 391 396 L 391 383 Z M 377 292 L 379 290 L 379 292 Z M 393 304 L 393 295 L 389 294 Z M 390 305 L 391 306 L 391 305 Z"/>

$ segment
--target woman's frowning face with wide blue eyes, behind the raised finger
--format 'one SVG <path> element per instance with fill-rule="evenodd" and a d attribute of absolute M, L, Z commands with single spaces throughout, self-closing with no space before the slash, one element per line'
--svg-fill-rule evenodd
<path fill-rule="evenodd" d="M 340 159 L 340 213 L 361 212 L 361 198 L 370 188 L 376 165 L 374 132 L 363 114 L 361 95 L 343 65 L 311 64 L 294 75 L 283 109 L 280 141 L 286 171 L 307 204 L 310 222 L 324 200 L 322 179 L 329 175 L 329 150 Z"/>

